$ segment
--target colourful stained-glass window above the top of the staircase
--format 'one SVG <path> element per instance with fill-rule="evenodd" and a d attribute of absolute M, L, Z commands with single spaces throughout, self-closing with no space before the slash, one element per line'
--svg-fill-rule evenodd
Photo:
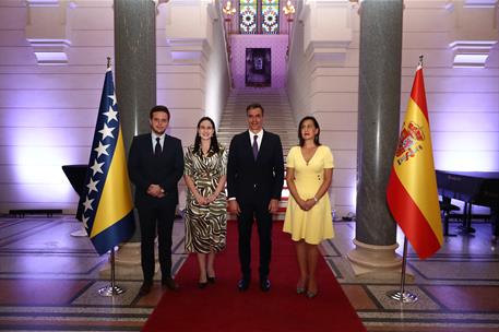
<path fill-rule="evenodd" d="M 240 34 L 278 34 L 278 0 L 239 0 Z"/>

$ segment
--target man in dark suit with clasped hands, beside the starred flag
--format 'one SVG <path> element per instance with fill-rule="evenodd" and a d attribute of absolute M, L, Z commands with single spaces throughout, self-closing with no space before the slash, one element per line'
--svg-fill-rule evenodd
<path fill-rule="evenodd" d="M 139 294 L 151 292 L 154 277 L 154 239 L 158 236 L 162 285 L 175 290 L 171 277 L 171 232 L 178 203 L 177 183 L 183 174 L 179 139 L 165 133 L 170 119 L 166 106 L 150 111 L 151 133 L 136 135 L 130 146 L 128 169 L 135 185 L 135 208 L 141 227 L 141 262 L 144 282 Z"/>

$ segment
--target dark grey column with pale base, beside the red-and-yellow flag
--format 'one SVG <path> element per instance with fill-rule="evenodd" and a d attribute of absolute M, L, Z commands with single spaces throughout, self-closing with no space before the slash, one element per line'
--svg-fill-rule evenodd
<path fill-rule="evenodd" d="M 348 252 L 358 276 L 399 277 L 396 224 L 385 189 L 400 126 L 402 0 L 365 0 L 360 13 L 357 223 Z"/>

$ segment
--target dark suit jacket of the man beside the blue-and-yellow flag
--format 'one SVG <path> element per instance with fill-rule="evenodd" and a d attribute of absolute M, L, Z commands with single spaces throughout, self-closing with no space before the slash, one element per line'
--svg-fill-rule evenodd
<path fill-rule="evenodd" d="M 128 173 L 135 185 L 135 205 L 151 208 L 158 203 L 178 203 L 177 183 L 183 175 L 183 152 L 179 139 L 165 135 L 163 153 L 154 157 L 151 133 L 133 138 L 128 156 Z M 166 195 L 162 199 L 147 194 L 150 185 L 159 185 Z"/>

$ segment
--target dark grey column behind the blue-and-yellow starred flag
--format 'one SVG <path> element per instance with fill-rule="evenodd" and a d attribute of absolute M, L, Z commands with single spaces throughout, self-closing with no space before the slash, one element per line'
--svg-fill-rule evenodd
<path fill-rule="evenodd" d="M 152 0 L 115 0 L 115 84 L 127 153 L 133 137 L 150 131 L 156 105 L 156 5 Z M 118 278 L 141 278 L 140 227 L 116 253 Z M 100 276 L 110 273 L 107 264 Z"/>

